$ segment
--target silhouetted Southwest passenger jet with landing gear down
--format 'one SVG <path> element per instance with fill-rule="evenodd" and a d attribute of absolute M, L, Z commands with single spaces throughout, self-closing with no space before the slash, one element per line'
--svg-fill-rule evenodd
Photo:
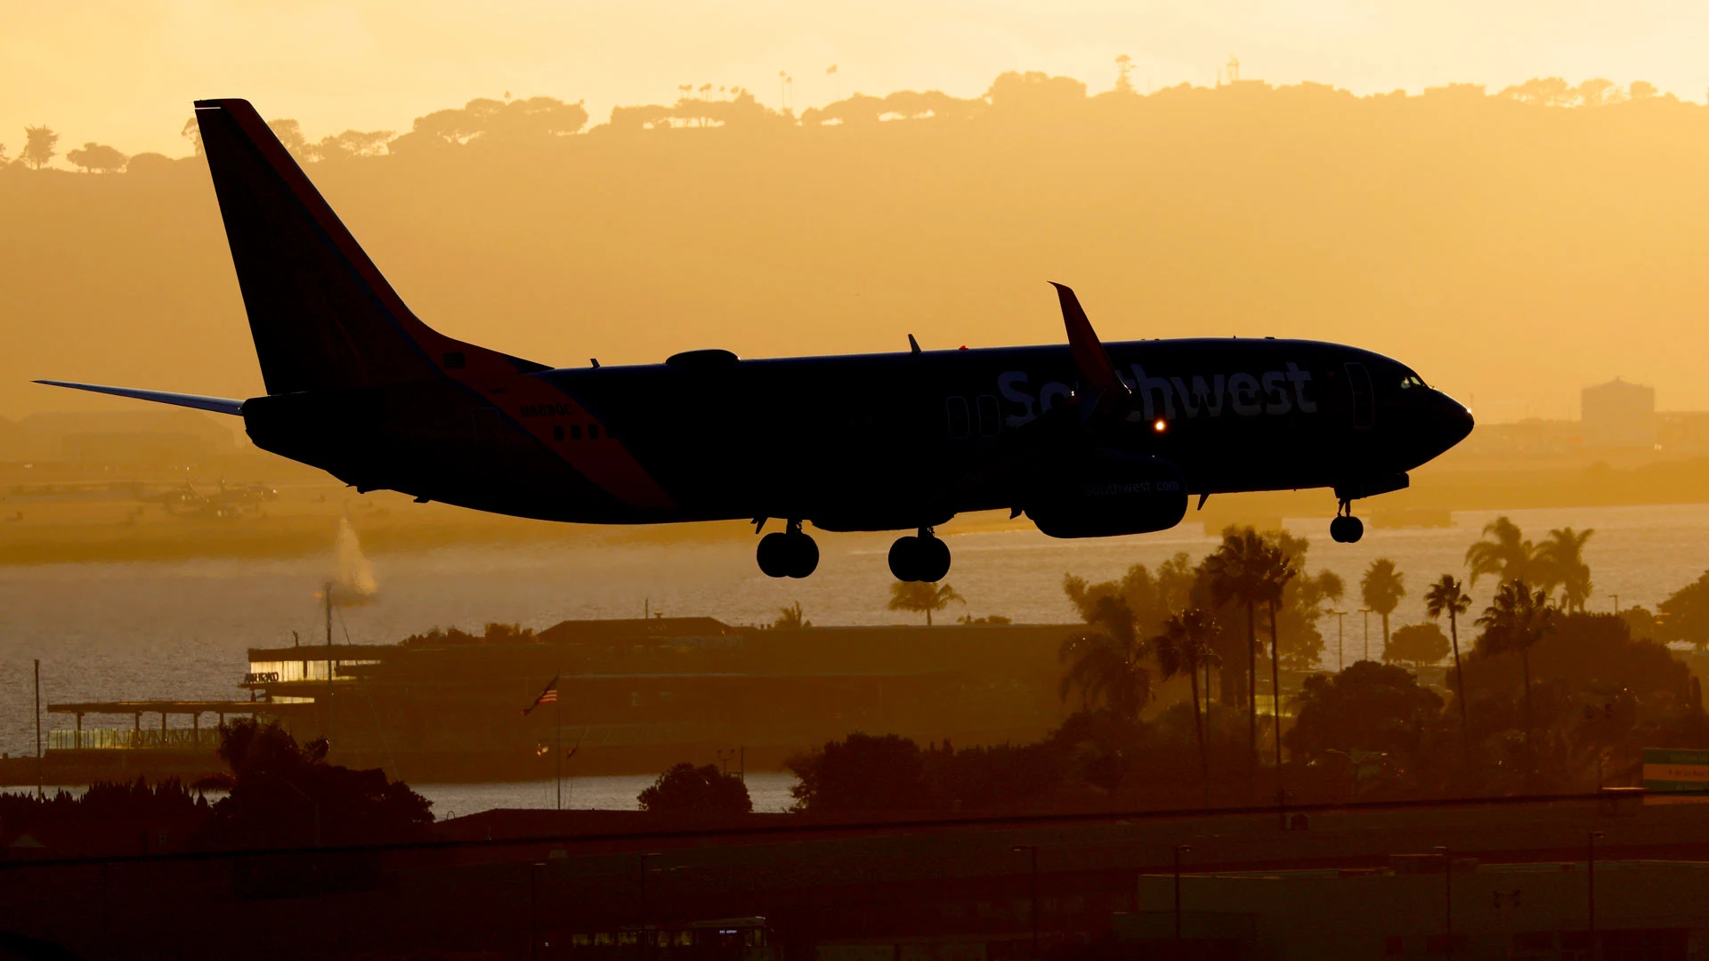
<path fill-rule="evenodd" d="M 1471 433 L 1405 364 L 1342 344 L 1102 344 L 1056 284 L 1066 345 L 552 368 L 419 320 L 243 99 L 197 101 L 267 393 L 246 400 L 38 381 L 239 416 L 256 446 L 359 492 L 576 523 L 771 518 L 761 571 L 805 578 L 824 532 L 911 532 L 902 581 L 938 581 L 935 528 L 1008 510 L 1051 537 L 1167 530 L 1212 494 L 1352 503 Z"/>

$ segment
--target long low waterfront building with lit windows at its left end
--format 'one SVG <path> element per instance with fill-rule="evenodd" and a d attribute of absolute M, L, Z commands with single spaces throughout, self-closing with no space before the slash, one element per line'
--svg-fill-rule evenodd
<path fill-rule="evenodd" d="M 198 705 L 50 705 L 77 715 L 77 730 L 50 740 L 50 781 L 195 775 L 212 758 L 215 708 L 277 718 L 297 740 L 325 735 L 335 763 L 417 783 L 550 778 L 559 758 L 566 775 L 658 773 L 719 754 L 731 768 L 776 769 L 853 730 L 1022 744 L 1065 716 L 1056 651 L 1072 629 L 766 629 L 653 617 L 566 621 L 502 640 L 255 648 L 244 699 L 202 705 L 202 735 L 164 730 L 167 715 Z M 554 698 L 535 706 L 549 684 Z M 91 728 L 91 713 L 120 715 L 123 727 Z"/>

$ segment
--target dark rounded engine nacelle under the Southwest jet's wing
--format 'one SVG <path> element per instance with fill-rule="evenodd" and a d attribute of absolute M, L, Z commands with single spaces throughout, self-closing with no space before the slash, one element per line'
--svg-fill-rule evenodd
<path fill-rule="evenodd" d="M 1099 457 L 1042 482 L 1027 516 L 1049 537 L 1169 530 L 1186 516 L 1186 479 L 1155 457 Z"/>

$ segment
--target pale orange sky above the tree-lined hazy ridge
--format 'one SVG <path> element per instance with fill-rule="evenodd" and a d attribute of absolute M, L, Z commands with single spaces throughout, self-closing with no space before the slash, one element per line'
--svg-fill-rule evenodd
<path fill-rule="evenodd" d="M 1104 89 L 1118 53 L 1135 84 L 1210 84 L 1239 55 L 1248 77 L 1355 92 L 1533 75 L 1651 80 L 1702 99 L 1709 5 L 1682 0 L 125 0 L 0 7 L 0 144 L 26 123 L 123 152 L 183 154 L 195 97 L 243 96 L 318 139 L 405 130 L 475 96 L 661 103 L 677 84 L 737 84 L 776 104 L 841 92 L 983 92 L 1003 70 Z"/>

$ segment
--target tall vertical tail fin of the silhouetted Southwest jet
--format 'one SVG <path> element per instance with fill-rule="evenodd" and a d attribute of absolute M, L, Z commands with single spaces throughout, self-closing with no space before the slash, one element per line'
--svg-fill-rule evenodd
<path fill-rule="evenodd" d="M 410 313 L 248 101 L 197 101 L 197 125 L 268 393 L 543 369 Z"/>

